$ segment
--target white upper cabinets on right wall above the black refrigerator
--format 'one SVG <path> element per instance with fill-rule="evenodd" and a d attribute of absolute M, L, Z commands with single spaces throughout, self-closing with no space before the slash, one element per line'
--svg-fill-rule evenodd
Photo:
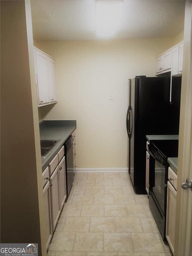
<path fill-rule="evenodd" d="M 157 75 L 171 71 L 171 75 L 182 73 L 183 42 L 171 47 L 156 58 L 155 72 Z"/>

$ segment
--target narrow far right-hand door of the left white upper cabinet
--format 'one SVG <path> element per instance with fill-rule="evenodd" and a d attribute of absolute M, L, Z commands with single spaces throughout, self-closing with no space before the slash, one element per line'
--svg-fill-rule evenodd
<path fill-rule="evenodd" d="M 48 57 L 49 61 L 49 92 L 50 102 L 57 101 L 57 88 L 56 88 L 56 77 L 55 77 L 55 61 Z"/>

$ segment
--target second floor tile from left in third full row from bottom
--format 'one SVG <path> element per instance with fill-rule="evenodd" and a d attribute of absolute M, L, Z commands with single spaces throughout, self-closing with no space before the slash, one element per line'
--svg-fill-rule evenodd
<path fill-rule="evenodd" d="M 82 206 L 81 216 L 102 217 L 104 216 L 103 204 L 87 204 Z"/>

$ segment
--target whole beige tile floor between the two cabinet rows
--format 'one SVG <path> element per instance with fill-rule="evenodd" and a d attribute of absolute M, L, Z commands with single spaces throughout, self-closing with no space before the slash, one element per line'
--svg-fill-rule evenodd
<path fill-rule="evenodd" d="M 127 173 L 76 173 L 49 256 L 171 256 Z"/>

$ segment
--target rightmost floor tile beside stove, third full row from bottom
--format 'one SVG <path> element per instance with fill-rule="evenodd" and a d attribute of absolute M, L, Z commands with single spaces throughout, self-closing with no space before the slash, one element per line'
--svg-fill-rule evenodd
<path fill-rule="evenodd" d="M 127 205 L 129 217 L 152 217 L 148 205 Z"/>

